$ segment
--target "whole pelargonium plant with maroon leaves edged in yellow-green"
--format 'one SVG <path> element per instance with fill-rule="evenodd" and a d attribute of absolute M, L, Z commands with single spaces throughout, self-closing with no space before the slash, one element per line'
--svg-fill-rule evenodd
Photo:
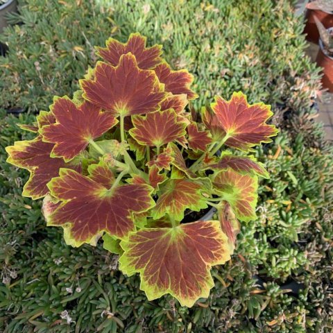
<path fill-rule="evenodd" d="M 30 171 L 22 195 L 44 197 L 47 225 L 61 226 L 67 244 L 103 238 L 149 300 L 170 293 L 191 307 L 209 296 L 212 266 L 230 259 L 239 221 L 255 219 L 258 176 L 268 173 L 230 148 L 271 142 L 272 112 L 241 92 L 188 111 L 193 76 L 138 33 L 97 54 L 73 99 L 55 97 L 21 125 L 36 137 L 7 147 L 8 162 Z M 212 208 L 219 221 L 203 218 Z"/>

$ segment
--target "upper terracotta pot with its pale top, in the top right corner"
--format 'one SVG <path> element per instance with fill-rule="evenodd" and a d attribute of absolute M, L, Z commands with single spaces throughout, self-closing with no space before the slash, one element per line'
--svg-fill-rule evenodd
<path fill-rule="evenodd" d="M 311 1 L 307 3 L 306 8 L 307 23 L 304 33 L 307 34 L 307 40 L 309 42 L 318 44 L 319 32 L 314 17 L 316 16 L 325 28 L 333 26 L 333 0 Z"/>

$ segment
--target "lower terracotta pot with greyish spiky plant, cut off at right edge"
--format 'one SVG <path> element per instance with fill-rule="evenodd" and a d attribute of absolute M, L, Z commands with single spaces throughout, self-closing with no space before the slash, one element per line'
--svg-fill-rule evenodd
<path fill-rule="evenodd" d="M 321 35 L 316 62 L 318 66 L 323 67 L 323 77 L 321 79 L 323 87 L 333 92 L 333 27 L 327 29 L 319 19 L 316 17 L 315 19 Z"/>

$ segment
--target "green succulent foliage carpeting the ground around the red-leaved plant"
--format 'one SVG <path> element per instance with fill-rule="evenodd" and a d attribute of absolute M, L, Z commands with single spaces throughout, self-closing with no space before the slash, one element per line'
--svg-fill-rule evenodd
<path fill-rule="evenodd" d="M 148 302 L 117 257 L 66 246 L 60 228 L 45 228 L 40 202 L 22 198 L 27 173 L 6 164 L 4 147 L 28 138 L 15 123 L 34 117 L 3 110 L 1 332 L 331 332 L 333 151 L 313 120 L 318 70 L 301 19 L 282 0 L 165 2 L 21 1 L 11 20 L 23 24 L 0 37 L 10 50 L 0 58 L 0 107 L 46 110 L 96 61 L 92 45 L 139 31 L 196 76 L 195 106 L 233 90 L 273 105 L 282 133 L 257 151 L 271 173 L 259 217 L 242 228 L 232 261 L 214 269 L 209 299 L 191 309 L 169 297 Z"/>

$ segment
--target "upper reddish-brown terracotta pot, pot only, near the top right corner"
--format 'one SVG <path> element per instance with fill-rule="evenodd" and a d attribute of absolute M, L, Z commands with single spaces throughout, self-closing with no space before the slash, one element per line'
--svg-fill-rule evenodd
<path fill-rule="evenodd" d="M 307 24 L 305 25 L 304 33 L 307 34 L 307 40 L 309 42 L 318 44 L 319 32 L 314 21 L 314 16 L 316 16 L 319 21 L 325 26 L 325 28 L 330 28 L 333 26 L 333 14 L 329 12 L 322 12 L 321 10 L 308 9 L 305 19 Z"/>

